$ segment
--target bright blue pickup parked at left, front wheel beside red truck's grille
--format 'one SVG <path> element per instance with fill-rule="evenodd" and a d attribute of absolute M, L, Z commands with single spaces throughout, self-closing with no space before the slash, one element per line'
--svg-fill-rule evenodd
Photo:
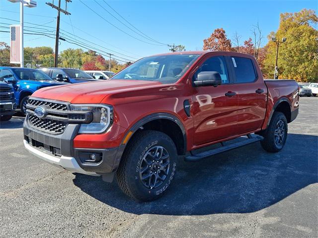
<path fill-rule="evenodd" d="M 29 97 L 36 90 L 66 84 L 52 80 L 40 70 L 18 67 L 0 67 L 0 81 L 12 84 L 15 103 L 23 115 L 26 115 L 25 106 Z"/>

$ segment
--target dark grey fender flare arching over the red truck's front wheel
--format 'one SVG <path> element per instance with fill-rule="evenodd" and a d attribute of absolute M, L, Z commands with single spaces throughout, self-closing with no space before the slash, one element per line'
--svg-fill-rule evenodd
<path fill-rule="evenodd" d="M 132 125 L 128 129 L 127 133 L 123 137 L 123 140 L 122 140 L 120 146 L 118 147 L 118 150 L 117 150 L 117 153 L 116 153 L 116 156 L 115 156 L 115 160 L 114 160 L 114 163 L 113 163 L 113 168 L 112 168 L 113 171 L 117 170 L 117 168 L 119 166 L 119 163 L 120 163 L 120 160 L 121 160 L 121 157 L 122 157 L 122 154 L 123 154 L 128 142 L 129 142 L 129 140 L 132 138 L 132 136 L 135 134 L 135 132 L 141 126 L 143 126 L 144 124 L 146 124 L 146 123 L 148 123 L 148 122 L 150 122 L 152 120 L 156 120 L 156 119 L 169 119 L 169 120 L 175 122 L 179 126 L 179 128 L 182 131 L 182 135 L 183 135 L 183 154 L 185 154 L 186 149 L 187 149 L 187 136 L 186 136 L 186 131 L 184 129 L 184 126 L 183 126 L 182 122 L 177 117 L 175 117 L 172 114 L 169 114 L 169 113 L 155 113 L 155 114 L 148 115 L 148 116 L 138 120 L 134 125 Z M 130 131 L 132 131 L 133 134 L 130 136 L 130 138 L 127 141 L 127 143 L 123 144 L 124 139 L 126 138 L 127 134 Z"/>

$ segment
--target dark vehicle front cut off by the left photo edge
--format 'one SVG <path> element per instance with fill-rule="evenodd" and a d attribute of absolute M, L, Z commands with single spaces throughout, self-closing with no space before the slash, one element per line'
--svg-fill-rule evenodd
<path fill-rule="evenodd" d="M 0 81 L 0 121 L 12 118 L 16 108 L 13 87 Z"/>

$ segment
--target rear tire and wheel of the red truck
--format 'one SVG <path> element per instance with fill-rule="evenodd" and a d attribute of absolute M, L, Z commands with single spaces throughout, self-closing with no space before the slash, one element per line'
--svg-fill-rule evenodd
<path fill-rule="evenodd" d="M 288 124 L 283 113 L 274 112 L 264 139 L 260 142 L 263 149 L 268 152 L 278 152 L 283 149 L 287 139 Z"/>

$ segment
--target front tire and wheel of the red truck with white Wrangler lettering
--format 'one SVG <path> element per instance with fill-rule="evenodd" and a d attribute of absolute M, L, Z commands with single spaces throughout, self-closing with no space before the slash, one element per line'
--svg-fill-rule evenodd
<path fill-rule="evenodd" d="M 117 170 L 119 187 L 138 201 L 159 198 L 171 186 L 177 157 L 175 144 L 166 134 L 154 130 L 138 132 L 127 145 Z"/>

